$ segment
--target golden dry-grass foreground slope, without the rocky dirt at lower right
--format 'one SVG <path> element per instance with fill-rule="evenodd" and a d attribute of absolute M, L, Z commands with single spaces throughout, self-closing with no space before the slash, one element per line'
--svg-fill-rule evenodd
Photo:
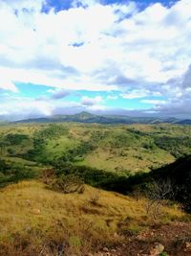
<path fill-rule="evenodd" d="M 96 204 L 91 198 L 99 193 Z M 133 232 L 151 224 L 145 214 L 145 199 L 124 197 L 86 186 L 83 194 L 63 195 L 37 181 L 23 181 L 1 190 L 0 255 L 42 255 L 51 244 L 67 242 L 68 253 L 88 251 L 122 243 L 118 223 Z M 177 207 L 163 208 L 162 222 L 182 218 Z M 18 254 L 19 253 L 19 254 Z M 52 254 L 48 254 L 52 255 Z M 54 254 L 53 254 L 54 255 Z M 67 254 L 68 255 L 68 254 Z"/>

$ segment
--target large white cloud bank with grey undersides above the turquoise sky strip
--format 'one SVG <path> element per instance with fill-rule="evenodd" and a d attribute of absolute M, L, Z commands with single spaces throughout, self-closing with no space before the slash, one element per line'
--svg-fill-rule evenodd
<path fill-rule="evenodd" d="M 190 0 L 141 12 L 135 2 L 80 0 L 43 13 L 45 3 L 0 1 L 1 89 L 16 92 L 20 81 L 60 91 L 121 90 L 125 99 L 190 97 Z"/>

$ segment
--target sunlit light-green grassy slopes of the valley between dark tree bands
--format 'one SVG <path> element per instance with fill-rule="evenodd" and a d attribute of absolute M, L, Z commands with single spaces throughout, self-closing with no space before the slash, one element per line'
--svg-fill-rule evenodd
<path fill-rule="evenodd" d="M 11 150 L 19 155 L 32 150 L 34 132 L 48 126 L 31 124 L 22 125 L 22 127 L 19 125 L 0 127 L 2 136 L 9 133 L 21 133 L 29 135 L 30 138 L 22 145 L 3 148 L 4 153 L 9 156 L 7 151 Z M 175 157 L 169 151 L 159 149 L 157 146 L 152 149 L 145 148 L 144 144 L 152 142 L 155 136 L 169 136 L 172 138 L 191 136 L 191 127 L 165 124 L 157 126 L 101 126 L 64 123 L 62 127 L 69 130 L 68 134 L 61 135 L 53 140 L 47 140 L 46 149 L 43 151 L 44 156 L 53 159 L 54 156 L 61 156 L 64 152 L 75 149 L 81 142 L 91 142 L 95 146 L 95 150 L 84 154 L 83 161 L 77 164 L 106 171 L 149 171 L 151 168 L 158 168 L 163 164 L 171 163 L 175 160 Z M 191 149 L 182 146 L 182 151 L 187 152 Z"/>

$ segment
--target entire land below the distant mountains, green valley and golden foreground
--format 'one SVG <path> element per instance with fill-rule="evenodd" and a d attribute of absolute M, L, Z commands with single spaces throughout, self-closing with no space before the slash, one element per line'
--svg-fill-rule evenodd
<path fill-rule="evenodd" d="M 190 126 L 2 124 L 0 151 L 1 256 L 189 255 Z"/>

